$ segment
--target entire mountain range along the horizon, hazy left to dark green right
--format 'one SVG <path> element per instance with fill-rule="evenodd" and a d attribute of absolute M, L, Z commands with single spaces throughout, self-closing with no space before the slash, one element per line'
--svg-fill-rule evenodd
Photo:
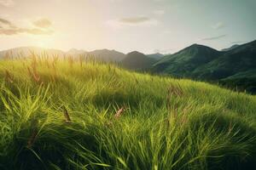
<path fill-rule="evenodd" d="M 188 77 L 196 80 L 218 82 L 230 88 L 246 89 L 256 94 L 256 41 L 233 45 L 220 51 L 200 44 L 183 48 L 175 54 L 142 54 L 137 51 L 123 54 L 115 50 L 98 49 L 84 51 L 37 47 L 13 48 L 0 52 L 0 59 L 23 58 L 32 54 L 73 58 L 84 56 L 105 62 L 113 62 L 135 71 Z"/>

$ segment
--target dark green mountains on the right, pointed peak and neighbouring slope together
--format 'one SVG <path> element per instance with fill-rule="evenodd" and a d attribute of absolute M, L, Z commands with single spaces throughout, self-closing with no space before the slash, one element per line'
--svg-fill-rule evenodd
<path fill-rule="evenodd" d="M 255 77 L 251 77 L 255 68 L 256 41 L 253 41 L 227 51 L 194 44 L 160 59 L 152 71 L 174 77 L 221 82 L 231 88 L 255 93 Z"/>

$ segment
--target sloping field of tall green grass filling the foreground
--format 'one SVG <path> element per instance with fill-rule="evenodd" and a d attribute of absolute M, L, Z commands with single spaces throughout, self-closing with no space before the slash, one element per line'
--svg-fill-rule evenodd
<path fill-rule="evenodd" d="M 255 96 L 92 61 L 2 60 L 0 83 L 0 169 L 256 168 Z"/>

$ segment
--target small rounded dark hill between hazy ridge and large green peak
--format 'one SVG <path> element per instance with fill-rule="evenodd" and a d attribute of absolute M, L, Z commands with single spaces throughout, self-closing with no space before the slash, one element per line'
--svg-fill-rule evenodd
<path fill-rule="evenodd" d="M 126 54 L 125 59 L 123 59 L 120 64 L 125 68 L 131 70 L 147 70 L 154 63 L 156 59 L 149 58 L 147 55 L 133 51 L 129 54 Z"/>

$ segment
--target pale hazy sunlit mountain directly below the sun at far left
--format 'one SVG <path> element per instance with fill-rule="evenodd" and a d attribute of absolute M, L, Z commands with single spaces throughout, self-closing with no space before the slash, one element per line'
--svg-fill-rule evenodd
<path fill-rule="evenodd" d="M 32 54 L 38 55 L 38 56 L 48 56 L 48 57 L 54 57 L 54 56 L 64 56 L 64 52 L 58 49 L 49 49 L 49 48 L 38 48 L 38 47 L 20 47 L 20 48 L 11 48 L 7 50 L 0 51 L 0 59 L 3 58 L 26 58 L 31 57 Z"/>

